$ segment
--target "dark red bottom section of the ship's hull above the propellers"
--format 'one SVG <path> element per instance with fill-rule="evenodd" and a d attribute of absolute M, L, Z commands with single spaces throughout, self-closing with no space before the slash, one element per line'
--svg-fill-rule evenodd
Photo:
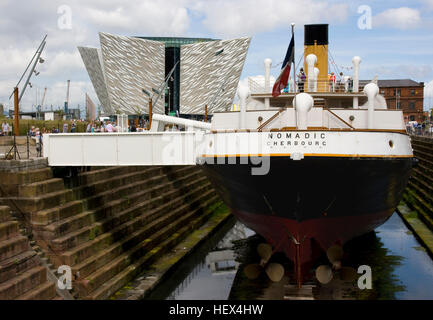
<path fill-rule="evenodd" d="M 303 275 L 329 247 L 334 244 L 342 246 L 348 240 L 374 230 L 391 217 L 393 210 L 302 222 L 239 210 L 232 212 L 247 227 L 263 236 L 275 252 L 283 252 L 293 261 L 300 285 Z"/>

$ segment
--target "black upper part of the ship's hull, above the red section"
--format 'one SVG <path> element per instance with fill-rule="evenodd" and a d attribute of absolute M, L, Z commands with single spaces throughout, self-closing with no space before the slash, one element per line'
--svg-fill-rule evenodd
<path fill-rule="evenodd" d="M 412 158 L 271 157 L 266 175 L 236 163 L 203 165 L 230 208 L 301 222 L 394 210 Z"/>

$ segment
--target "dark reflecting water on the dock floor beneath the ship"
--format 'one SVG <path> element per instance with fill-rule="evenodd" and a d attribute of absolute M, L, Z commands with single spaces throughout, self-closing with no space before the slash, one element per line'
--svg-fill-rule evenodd
<path fill-rule="evenodd" d="M 375 232 L 344 246 L 345 265 L 371 267 L 371 290 L 360 290 L 356 281 L 348 284 L 337 279 L 320 285 L 312 277 L 299 291 L 290 270 L 279 283 L 270 282 L 264 273 L 248 280 L 242 268 L 257 262 L 255 248 L 262 241 L 239 222 L 232 222 L 146 299 L 433 299 L 433 260 L 396 213 Z M 286 270 L 291 268 L 281 256 L 276 259 Z"/>

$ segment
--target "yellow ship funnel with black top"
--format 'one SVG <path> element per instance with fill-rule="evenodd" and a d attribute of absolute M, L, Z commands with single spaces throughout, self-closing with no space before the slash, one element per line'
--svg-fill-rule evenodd
<path fill-rule="evenodd" d="M 304 26 L 304 68 L 308 70 L 307 57 L 317 57 L 316 67 L 319 69 L 318 92 L 325 92 L 328 83 L 328 25 L 306 24 Z M 309 81 L 309 80 L 308 80 Z M 307 88 L 310 88 L 308 85 Z"/>

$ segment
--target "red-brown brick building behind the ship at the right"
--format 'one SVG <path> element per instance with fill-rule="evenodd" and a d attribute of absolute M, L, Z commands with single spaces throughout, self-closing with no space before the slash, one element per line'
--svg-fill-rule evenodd
<path fill-rule="evenodd" d="M 388 109 L 403 110 L 404 120 L 424 122 L 424 82 L 410 79 L 378 80 L 379 93 L 386 99 Z"/>

